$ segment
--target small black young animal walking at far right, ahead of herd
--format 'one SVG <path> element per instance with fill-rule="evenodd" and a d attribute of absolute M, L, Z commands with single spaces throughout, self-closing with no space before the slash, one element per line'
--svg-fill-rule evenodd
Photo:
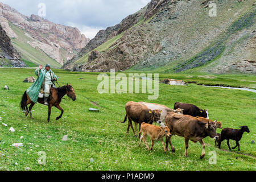
<path fill-rule="evenodd" d="M 232 139 L 232 140 L 236 140 L 236 146 L 232 147 L 232 149 L 235 149 L 238 146 L 238 151 L 240 151 L 239 141 L 241 140 L 243 133 L 245 133 L 245 131 L 247 133 L 250 133 L 250 130 L 247 126 L 240 126 L 240 128 L 241 128 L 240 130 L 230 129 L 228 127 L 223 129 L 221 131 L 221 139 L 218 141 L 218 148 L 221 147 L 221 142 L 226 139 L 228 140 L 227 144 L 228 144 L 229 150 L 231 151 L 231 148 L 229 146 L 229 139 Z"/>

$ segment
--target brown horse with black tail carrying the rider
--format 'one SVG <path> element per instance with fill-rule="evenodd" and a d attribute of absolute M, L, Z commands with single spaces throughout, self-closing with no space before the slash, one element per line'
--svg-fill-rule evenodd
<path fill-rule="evenodd" d="M 60 107 L 60 102 L 61 102 L 61 99 L 65 96 L 65 94 L 67 94 L 67 96 L 69 98 L 72 98 L 73 101 L 76 100 L 75 91 L 74 91 L 73 87 L 68 84 L 61 86 L 59 88 L 52 87 L 50 90 L 50 93 L 51 93 L 51 95 L 48 98 L 48 104 L 49 104 L 48 105 L 48 122 L 49 122 L 49 118 L 51 115 L 52 106 L 55 106 L 57 109 L 61 110 L 61 114 L 59 115 L 59 117 L 56 118 L 56 120 L 58 120 L 62 117 L 64 110 Z M 38 98 L 38 102 L 40 104 L 44 104 L 44 98 Z M 29 110 L 27 108 L 28 104 L 30 104 Z M 30 100 L 30 97 L 28 97 L 28 95 L 27 95 L 27 91 L 25 91 L 22 96 L 22 100 L 20 101 L 20 109 L 22 109 L 22 110 L 26 109 L 25 115 L 27 116 L 28 113 L 30 113 L 31 119 L 34 119 L 32 117 L 32 113 L 31 113 L 32 107 L 34 105 L 35 105 L 35 103 Z"/>

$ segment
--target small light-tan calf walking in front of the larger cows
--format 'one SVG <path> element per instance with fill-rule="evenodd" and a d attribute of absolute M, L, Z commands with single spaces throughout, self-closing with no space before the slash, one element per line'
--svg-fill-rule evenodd
<path fill-rule="evenodd" d="M 152 150 L 155 141 L 161 141 L 164 147 L 164 152 L 166 152 L 166 146 L 164 145 L 163 137 L 171 137 L 170 129 L 168 127 L 162 127 L 162 126 L 154 126 L 147 123 L 141 124 L 141 130 L 139 131 L 139 134 L 142 133 L 141 139 L 139 141 L 139 147 L 141 146 L 142 139 L 147 147 L 148 150 Z M 147 145 L 147 136 L 151 139 L 151 148 Z"/>

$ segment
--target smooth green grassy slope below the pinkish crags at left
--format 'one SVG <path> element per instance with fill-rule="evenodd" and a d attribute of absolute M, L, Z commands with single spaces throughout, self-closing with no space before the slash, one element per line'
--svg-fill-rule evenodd
<path fill-rule="evenodd" d="M 53 68 L 60 68 L 61 65 L 57 61 L 53 60 L 46 53 L 39 48 L 34 48 L 28 44 L 28 41 L 32 41 L 31 38 L 25 35 L 25 32 L 16 27 L 14 24 L 9 23 L 11 29 L 15 32 L 18 38 L 11 39 L 13 46 L 22 53 L 22 59 L 32 62 L 36 65 L 39 64 L 51 64 Z"/>

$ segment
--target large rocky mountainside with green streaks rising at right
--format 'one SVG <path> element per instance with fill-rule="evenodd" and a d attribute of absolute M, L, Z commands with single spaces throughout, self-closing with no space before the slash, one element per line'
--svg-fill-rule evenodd
<path fill-rule="evenodd" d="M 256 73 L 255 13 L 254 1 L 152 0 L 98 32 L 63 68 Z"/>

